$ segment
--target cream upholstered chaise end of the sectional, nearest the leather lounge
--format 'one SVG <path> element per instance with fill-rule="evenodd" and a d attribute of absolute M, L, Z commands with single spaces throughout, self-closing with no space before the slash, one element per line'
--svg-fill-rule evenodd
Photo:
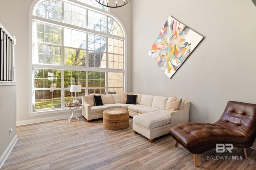
<path fill-rule="evenodd" d="M 158 111 L 139 114 L 132 119 L 134 133 L 139 133 L 153 142 L 154 138 L 168 134 L 171 128 L 170 117 Z"/>

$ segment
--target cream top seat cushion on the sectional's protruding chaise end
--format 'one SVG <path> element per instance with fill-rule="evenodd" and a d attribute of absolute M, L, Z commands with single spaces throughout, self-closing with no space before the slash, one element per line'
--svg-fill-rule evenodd
<path fill-rule="evenodd" d="M 165 114 L 155 114 L 154 112 L 135 115 L 132 119 L 134 123 L 145 127 L 147 129 L 153 129 L 170 123 L 170 118 Z"/>

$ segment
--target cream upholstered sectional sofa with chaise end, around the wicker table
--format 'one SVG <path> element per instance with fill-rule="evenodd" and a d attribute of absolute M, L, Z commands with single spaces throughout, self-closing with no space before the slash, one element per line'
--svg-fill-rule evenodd
<path fill-rule="evenodd" d="M 82 115 L 88 122 L 92 119 L 102 118 L 105 109 L 128 109 L 129 116 L 133 117 L 132 126 L 134 133 L 140 133 L 147 137 L 150 142 L 156 137 L 169 133 L 168 131 L 171 127 L 188 122 L 190 102 L 180 99 L 180 104 L 176 109 L 168 108 L 175 96 L 164 97 L 134 94 L 137 95 L 136 104 L 125 104 L 124 98 L 122 97 L 126 95 L 126 93 L 108 94 L 101 95 L 102 106 L 94 106 L 93 95 L 94 94 L 83 96 L 82 99 Z"/>

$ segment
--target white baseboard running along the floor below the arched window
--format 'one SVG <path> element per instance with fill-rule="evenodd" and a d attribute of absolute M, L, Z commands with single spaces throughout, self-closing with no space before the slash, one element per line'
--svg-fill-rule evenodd
<path fill-rule="evenodd" d="M 76 113 L 76 115 L 78 117 L 82 117 L 82 113 Z M 44 117 L 44 118 L 38 118 L 38 119 L 29 119 L 29 120 L 23 120 L 23 121 L 16 121 L 16 125 L 17 126 L 29 125 L 29 124 L 33 124 L 33 123 L 41 123 L 41 122 L 46 122 L 46 121 L 68 119 L 68 117 L 70 117 L 70 115 L 60 115 L 60 116 Z"/>

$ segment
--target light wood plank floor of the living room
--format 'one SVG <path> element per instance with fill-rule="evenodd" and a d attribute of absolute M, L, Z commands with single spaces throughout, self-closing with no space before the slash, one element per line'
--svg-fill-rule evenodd
<path fill-rule="evenodd" d="M 170 135 L 153 143 L 132 131 L 103 128 L 102 119 L 88 123 L 67 119 L 17 127 L 18 141 L 2 170 L 252 170 L 256 169 L 256 150 L 247 149 L 248 159 L 235 160 L 242 154 L 216 153 L 210 150 L 198 155 L 198 168 L 193 155 L 181 145 L 174 147 Z M 211 159 L 207 156 L 215 156 Z M 218 156 L 230 156 L 220 159 Z"/>

